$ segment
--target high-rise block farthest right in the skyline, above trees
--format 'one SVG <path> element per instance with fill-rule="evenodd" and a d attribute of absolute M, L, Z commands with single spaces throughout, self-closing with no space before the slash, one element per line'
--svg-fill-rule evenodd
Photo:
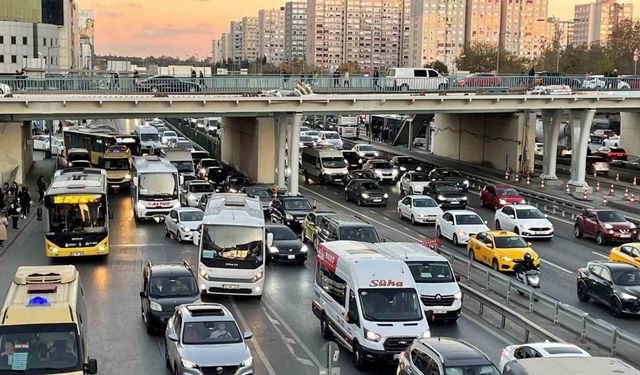
<path fill-rule="evenodd" d="M 616 0 L 597 0 L 575 6 L 573 44 L 607 44 L 613 28 L 633 17 L 633 4 Z"/>

